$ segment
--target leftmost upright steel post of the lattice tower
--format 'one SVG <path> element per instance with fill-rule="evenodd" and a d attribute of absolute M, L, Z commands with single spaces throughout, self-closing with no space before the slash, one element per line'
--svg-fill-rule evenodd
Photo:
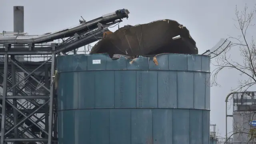
<path fill-rule="evenodd" d="M 4 144 L 5 134 L 5 118 L 6 118 L 6 86 L 7 86 L 7 72 L 8 72 L 8 55 L 4 55 L 4 82 L 3 82 L 3 100 L 2 100 L 2 122 L 1 122 L 1 144 Z"/>

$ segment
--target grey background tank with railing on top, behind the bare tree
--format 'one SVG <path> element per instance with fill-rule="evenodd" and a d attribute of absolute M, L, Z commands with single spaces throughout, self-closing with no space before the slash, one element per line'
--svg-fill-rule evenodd
<path fill-rule="evenodd" d="M 248 133 L 256 134 L 256 92 L 237 92 L 232 95 L 232 100 L 233 143 L 255 143 L 256 138 Z"/>

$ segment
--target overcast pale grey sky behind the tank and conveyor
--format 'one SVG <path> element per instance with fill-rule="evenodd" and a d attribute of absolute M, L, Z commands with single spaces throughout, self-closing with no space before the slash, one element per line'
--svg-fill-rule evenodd
<path fill-rule="evenodd" d="M 220 38 L 240 34 L 232 18 L 235 18 L 236 5 L 242 10 L 246 3 L 252 8 L 256 0 L 0 0 L 0 31 L 13 30 L 13 6 L 24 6 L 24 29 L 29 34 L 54 32 L 78 24 L 80 16 L 92 20 L 102 14 L 127 8 L 130 17 L 124 19 L 120 27 L 160 19 L 176 20 L 190 30 L 201 54 Z M 255 33 L 255 28 L 250 32 Z M 234 50 L 234 54 L 238 54 L 238 51 Z M 226 70 L 219 76 L 221 87 L 211 88 L 210 120 L 212 124 L 217 124 L 219 133 L 224 136 L 224 99 L 230 89 L 237 85 L 239 75 Z M 228 130 L 231 131 L 232 119 L 228 123 Z"/>

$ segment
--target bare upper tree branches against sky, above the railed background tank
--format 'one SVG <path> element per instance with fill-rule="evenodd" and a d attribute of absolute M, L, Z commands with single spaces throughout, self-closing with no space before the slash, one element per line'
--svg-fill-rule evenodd
<path fill-rule="evenodd" d="M 246 80 L 239 80 L 237 88 L 234 88 L 235 91 L 247 90 L 256 84 L 256 46 L 254 39 L 251 38 L 250 40 L 246 36 L 248 29 L 254 26 L 252 24 L 254 14 L 255 10 L 249 11 L 247 6 L 242 11 L 239 11 L 236 7 L 235 27 L 240 31 L 241 35 L 237 37 L 229 36 L 230 41 L 235 42 L 215 58 L 215 63 L 212 63 L 216 66 L 211 75 L 212 86 L 220 86 L 217 78 L 218 74 L 224 69 L 236 70 L 240 72 L 240 76 L 246 77 Z M 249 43 L 249 41 L 251 42 Z M 242 63 L 231 59 L 230 50 L 233 48 L 239 48 L 240 56 L 243 59 Z"/>

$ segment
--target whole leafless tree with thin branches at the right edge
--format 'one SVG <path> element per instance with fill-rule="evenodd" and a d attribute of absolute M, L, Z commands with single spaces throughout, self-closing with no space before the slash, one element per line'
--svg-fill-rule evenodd
<path fill-rule="evenodd" d="M 212 64 L 216 67 L 211 74 L 211 86 L 220 86 L 218 84 L 218 74 L 224 69 L 231 69 L 236 72 L 239 72 L 240 78 L 238 78 L 238 85 L 232 91 L 235 92 L 244 92 L 248 88 L 256 84 L 256 46 L 254 38 L 249 36 L 249 31 L 256 32 L 253 24 L 254 14 L 256 6 L 253 10 L 249 10 L 245 5 L 243 10 L 238 10 L 236 7 L 235 10 L 235 28 L 238 29 L 240 35 L 238 36 L 229 36 L 229 40 L 233 42 L 228 48 L 224 50 L 220 55 L 216 56 L 215 61 Z M 254 28 L 250 30 L 251 28 Z M 233 58 L 231 50 L 239 49 L 240 59 Z M 232 59 L 233 58 L 233 59 Z M 254 97 L 254 95 L 253 95 Z M 252 98 L 249 98 L 252 100 Z M 233 98 L 234 100 L 234 98 Z M 240 100 L 245 100 L 240 98 Z M 251 105 L 256 104 L 256 102 L 251 102 Z M 242 102 L 241 102 L 242 105 Z M 229 144 L 230 138 L 235 135 L 243 138 L 243 142 L 250 144 L 256 144 L 256 128 L 252 126 L 247 129 L 243 126 L 244 124 L 248 125 L 248 122 L 256 118 L 254 111 L 236 111 L 236 114 L 242 116 L 244 123 L 235 122 L 233 124 L 233 131 L 230 132 L 228 140 L 225 140 L 225 143 Z M 255 115 L 255 116 L 254 116 Z M 245 120 L 246 119 L 246 120 Z M 243 136 L 244 135 L 244 136 Z M 245 144 L 245 143 L 243 143 Z"/>

